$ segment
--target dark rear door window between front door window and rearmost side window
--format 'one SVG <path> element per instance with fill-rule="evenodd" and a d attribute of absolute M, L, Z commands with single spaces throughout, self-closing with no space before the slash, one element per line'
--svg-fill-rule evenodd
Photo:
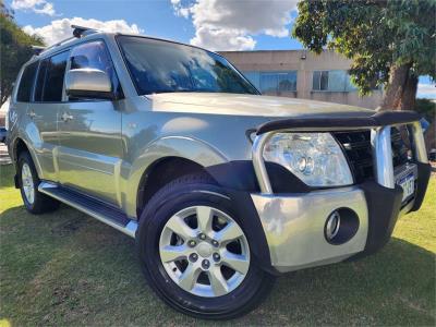
<path fill-rule="evenodd" d="M 35 101 L 62 100 L 63 77 L 69 52 L 62 52 L 41 61 L 36 81 Z"/>

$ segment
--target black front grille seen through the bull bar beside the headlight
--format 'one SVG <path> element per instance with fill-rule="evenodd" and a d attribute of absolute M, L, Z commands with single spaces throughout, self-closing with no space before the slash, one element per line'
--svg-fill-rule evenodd
<path fill-rule="evenodd" d="M 400 131 L 391 129 L 393 168 L 408 161 L 408 146 Z M 335 132 L 334 136 L 341 144 L 356 183 L 374 179 L 371 131 Z"/>

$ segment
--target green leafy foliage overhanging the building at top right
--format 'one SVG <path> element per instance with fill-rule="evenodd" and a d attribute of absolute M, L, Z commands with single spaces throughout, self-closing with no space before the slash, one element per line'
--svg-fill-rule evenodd
<path fill-rule="evenodd" d="M 292 35 L 352 59 L 352 80 L 367 94 L 388 82 L 391 65 L 436 78 L 435 15 L 436 0 L 303 0 Z"/>

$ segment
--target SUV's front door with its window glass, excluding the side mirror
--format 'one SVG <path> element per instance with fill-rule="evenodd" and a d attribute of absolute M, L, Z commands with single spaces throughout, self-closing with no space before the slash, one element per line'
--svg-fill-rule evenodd
<path fill-rule="evenodd" d="M 89 41 L 72 49 L 70 69 L 84 68 L 105 71 L 112 80 L 112 89 L 118 89 L 104 41 Z M 60 109 L 58 130 L 61 184 L 120 206 L 123 152 L 118 101 L 69 98 Z"/>

